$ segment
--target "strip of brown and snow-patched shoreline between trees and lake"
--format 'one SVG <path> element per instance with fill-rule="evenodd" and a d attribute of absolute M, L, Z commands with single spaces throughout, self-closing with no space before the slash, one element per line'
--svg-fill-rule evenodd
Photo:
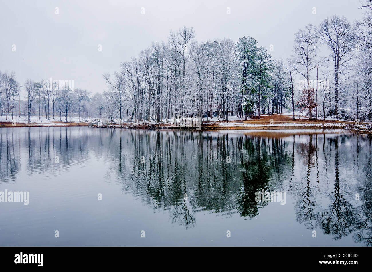
<path fill-rule="evenodd" d="M 323 120 L 323 119 L 309 119 L 303 116 L 296 116 L 293 120 L 291 116 L 274 114 L 274 115 L 262 115 L 260 119 L 257 116 L 250 116 L 247 120 L 235 118 L 231 116 L 231 120 L 212 119 L 208 121 L 202 121 L 201 129 L 194 127 L 187 127 L 183 124 L 181 127 L 179 124 L 176 126 L 172 122 L 145 122 L 134 123 L 127 122 L 118 125 L 97 125 L 89 126 L 89 122 L 64 122 L 55 121 L 45 123 L 16 123 L 13 125 L 12 122 L 0 122 L 0 128 L 4 127 L 92 127 L 92 128 L 129 128 L 129 129 L 186 129 L 194 131 L 221 131 L 221 130 L 246 130 L 246 131 L 263 131 L 263 132 L 279 132 L 279 131 L 330 131 L 330 130 L 344 130 L 347 132 L 355 132 L 360 134 L 372 134 L 372 124 L 367 122 L 356 122 L 353 121 L 341 121 L 341 120 Z M 200 128 L 200 127 L 199 127 Z"/>

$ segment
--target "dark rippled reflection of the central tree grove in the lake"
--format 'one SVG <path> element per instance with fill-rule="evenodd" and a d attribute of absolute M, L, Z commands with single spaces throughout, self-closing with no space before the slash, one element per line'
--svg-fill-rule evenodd
<path fill-rule="evenodd" d="M 122 176 L 124 190 L 169 209 L 172 221 L 186 226 L 195 223 L 191 214 L 198 211 L 257 215 L 254 193 L 273 188 L 278 175 L 289 171 L 290 157 L 278 139 L 188 131 L 129 134 L 133 179 Z"/>

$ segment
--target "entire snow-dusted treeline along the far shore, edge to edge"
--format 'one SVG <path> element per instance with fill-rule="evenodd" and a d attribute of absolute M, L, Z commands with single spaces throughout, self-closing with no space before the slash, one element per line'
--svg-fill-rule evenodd
<path fill-rule="evenodd" d="M 286 60 L 272 59 L 249 36 L 198 42 L 193 28 L 184 27 L 170 31 L 167 42 L 153 42 L 120 63 L 118 71 L 103 74 L 103 93 L 26 80 L 26 97 L 19 97 L 15 73 L 0 73 L 1 115 L 13 118 L 22 104 L 28 120 L 37 114 L 64 121 L 68 116 L 116 122 L 168 122 L 174 116 L 247 119 L 288 110 L 293 118 L 295 111 L 306 111 L 310 119 L 371 120 L 372 5 L 363 3 L 358 22 L 331 16 L 299 29 Z"/>

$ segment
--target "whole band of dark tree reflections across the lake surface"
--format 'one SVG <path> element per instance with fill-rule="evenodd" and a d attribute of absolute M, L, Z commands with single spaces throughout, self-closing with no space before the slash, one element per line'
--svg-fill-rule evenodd
<path fill-rule="evenodd" d="M 18 130 L 17 130 L 18 129 Z M 22 151 L 22 152 L 21 152 Z M 0 182 L 15 182 L 21 153 L 28 175 L 63 175 L 53 161 L 110 161 L 106 182 L 121 183 L 171 223 L 197 227 L 198 212 L 260 216 L 255 192 L 285 191 L 295 217 L 333 239 L 372 245 L 371 137 L 353 134 L 250 135 L 244 132 L 94 128 L 0 131 Z M 357 194 L 360 199 L 357 199 Z"/>

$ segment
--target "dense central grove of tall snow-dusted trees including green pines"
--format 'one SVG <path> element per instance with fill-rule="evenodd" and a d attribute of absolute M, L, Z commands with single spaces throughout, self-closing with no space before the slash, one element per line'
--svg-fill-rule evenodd
<path fill-rule="evenodd" d="M 170 32 L 121 69 L 103 77 L 109 118 L 166 121 L 173 116 L 216 116 L 284 112 L 291 95 L 282 60 L 251 37 L 194 40 L 193 28 Z"/>

